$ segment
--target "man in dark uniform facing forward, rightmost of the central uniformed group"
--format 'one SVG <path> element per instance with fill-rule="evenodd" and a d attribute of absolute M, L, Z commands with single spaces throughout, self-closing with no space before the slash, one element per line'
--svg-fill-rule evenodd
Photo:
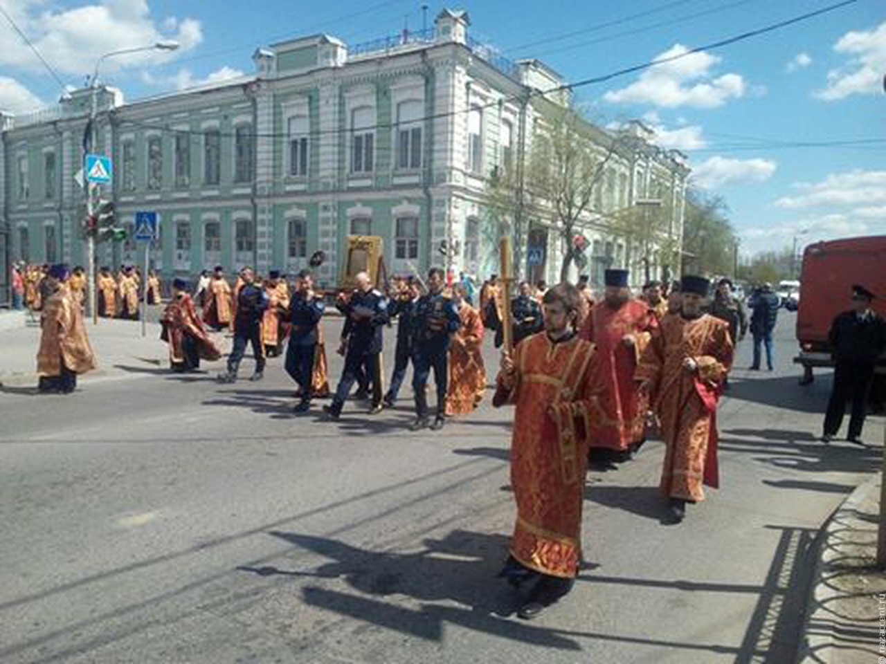
<path fill-rule="evenodd" d="M 428 378 L 434 370 L 437 384 L 437 417 L 431 429 L 443 429 L 449 380 L 449 340 L 458 331 L 462 319 L 450 297 L 443 295 L 445 275 L 439 267 L 428 271 L 428 292 L 416 302 L 413 328 L 412 387 L 416 391 L 416 421 L 410 429 L 418 431 L 429 424 Z"/>

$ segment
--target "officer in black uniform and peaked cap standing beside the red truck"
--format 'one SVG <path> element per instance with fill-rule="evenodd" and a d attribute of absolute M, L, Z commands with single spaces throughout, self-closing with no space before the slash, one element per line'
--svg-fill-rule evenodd
<path fill-rule="evenodd" d="M 846 402 L 852 402 L 849 421 L 850 443 L 861 442 L 861 429 L 865 424 L 867 394 L 874 381 L 877 360 L 886 351 L 886 322 L 871 309 L 874 293 L 863 286 L 852 286 L 851 311 L 839 314 L 831 325 L 828 340 L 834 349 L 834 387 L 828 401 L 824 436 L 829 443 L 840 430 Z"/>

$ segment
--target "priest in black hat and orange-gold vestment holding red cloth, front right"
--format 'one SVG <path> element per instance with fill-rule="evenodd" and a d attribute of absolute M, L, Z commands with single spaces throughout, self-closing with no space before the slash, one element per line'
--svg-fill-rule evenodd
<path fill-rule="evenodd" d="M 728 323 L 703 313 L 707 293 L 707 279 L 682 278 L 680 314 L 664 317 L 635 376 L 661 421 L 667 446 L 661 490 L 674 522 L 683 520 L 687 503 L 704 499 L 703 484 L 719 486 L 717 402 L 733 344 Z"/>

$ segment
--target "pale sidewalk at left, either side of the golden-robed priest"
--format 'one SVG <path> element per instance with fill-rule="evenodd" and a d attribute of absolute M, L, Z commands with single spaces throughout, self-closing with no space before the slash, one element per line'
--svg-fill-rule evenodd
<path fill-rule="evenodd" d="M 146 374 L 150 369 L 168 366 L 167 344 L 160 341 L 158 323 L 148 323 L 144 337 L 138 320 L 99 319 L 98 325 L 88 320 L 86 330 L 98 368 L 86 374 L 84 381 L 99 376 Z M 5 387 L 37 384 L 39 344 L 40 327 L 30 321 L 27 314 L 0 314 L 0 384 Z"/>

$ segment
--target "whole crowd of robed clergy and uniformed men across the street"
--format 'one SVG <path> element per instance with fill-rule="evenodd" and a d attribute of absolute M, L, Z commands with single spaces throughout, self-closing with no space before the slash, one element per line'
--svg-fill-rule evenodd
<path fill-rule="evenodd" d="M 217 376 L 223 383 L 238 380 L 247 347 L 253 382 L 263 379 L 268 358 L 284 355 L 284 370 L 297 386 L 293 413 L 309 413 L 314 398 L 330 395 L 323 407 L 327 421 L 340 418 L 355 385 L 356 398 L 369 402 L 368 415 L 391 408 L 411 364 L 410 429 L 438 431 L 447 418 L 472 413 L 484 398 L 481 350 L 492 332 L 501 348 L 493 405 L 516 406 L 510 463 L 517 520 L 501 575 L 528 589 L 518 614 L 529 619 L 562 598 L 578 574 L 588 464 L 629 462 L 649 432 L 657 431 L 665 445 L 660 489 L 668 501 L 667 519 L 679 523 L 688 505 L 703 501 L 704 486 L 719 485 L 716 412 L 735 344 L 749 328 L 755 341 L 750 368 L 759 367 L 760 345 L 766 345 L 772 368 L 774 316 L 766 288 L 752 299 L 749 320 L 728 279 L 717 282 L 712 298 L 711 282 L 701 276 L 648 282 L 639 297 L 629 288 L 627 270 L 606 270 L 604 282 L 597 300 L 586 277 L 551 288 L 520 282 L 511 297 L 497 276 L 475 293 L 469 279 L 447 280 L 438 267 L 424 279 L 395 278 L 384 290 L 374 287 L 369 274 L 356 274 L 354 289 L 338 292 L 334 300 L 344 318 L 338 344 L 344 367 L 335 390 L 323 332 L 327 297 L 315 290 L 307 269 L 290 284 L 279 272 L 260 280 L 245 267 L 231 286 L 218 266 L 201 275 L 193 295 L 187 282 L 175 279 L 161 319 L 162 338 L 173 370 L 189 372 L 201 359 L 220 359 L 213 332 L 229 333 L 227 367 Z M 82 323 L 82 282 L 74 282 L 66 266 L 52 266 L 36 282 L 43 283 L 45 290 L 33 278 L 25 280 L 25 298 L 43 302 L 40 389 L 67 393 L 77 374 L 95 366 Z M 97 285 L 106 315 L 131 316 L 130 298 L 137 313 L 135 270 L 124 269 L 117 278 L 102 270 Z M 159 301 L 159 283 L 157 290 Z M 865 367 L 886 350 L 886 324 L 871 311 L 873 298 L 857 286 L 853 311 L 835 320 L 838 364 L 826 440 L 835 436 L 850 398 L 856 405 L 849 438 L 858 441 L 860 435 L 859 390 L 867 383 L 859 375 L 872 375 Z M 385 390 L 383 336 L 394 321 L 394 362 Z"/>

